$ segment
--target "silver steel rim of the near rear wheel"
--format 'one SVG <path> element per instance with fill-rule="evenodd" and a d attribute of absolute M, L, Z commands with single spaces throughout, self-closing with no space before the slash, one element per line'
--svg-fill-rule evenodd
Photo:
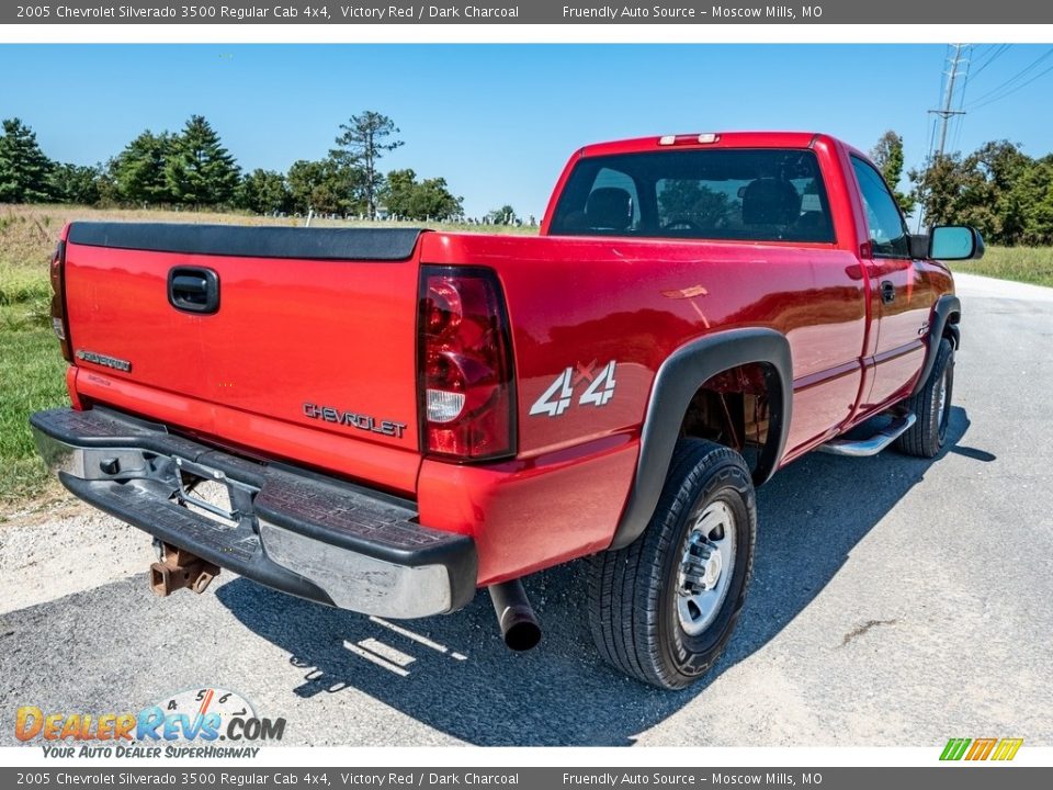
<path fill-rule="evenodd" d="M 713 501 L 692 514 L 676 592 L 677 617 L 689 636 L 698 636 L 712 625 L 727 599 L 735 575 L 735 515 L 726 503 Z M 703 585 L 712 586 L 699 589 L 700 577 Z"/>

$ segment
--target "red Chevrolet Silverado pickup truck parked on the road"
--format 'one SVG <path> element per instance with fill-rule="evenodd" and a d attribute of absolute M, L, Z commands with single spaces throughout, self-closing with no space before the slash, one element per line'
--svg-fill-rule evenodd
<path fill-rule="evenodd" d="M 679 688 L 738 618 L 755 486 L 815 449 L 940 450 L 961 305 L 935 259 L 982 251 L 912 236 L 864 155 L 800 133 L 585 147 L 537 237 L 77 222 L 72 408 L 31 421 L 154 535 L 161 595 L 225 567 L 420 618 L 487 587 L 526 648 L 521 577 L 589 557 L 602 656 Z"/>

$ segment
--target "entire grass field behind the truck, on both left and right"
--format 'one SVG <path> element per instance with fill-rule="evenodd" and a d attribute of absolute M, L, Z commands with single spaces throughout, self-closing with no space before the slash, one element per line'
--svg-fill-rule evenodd
<path fill-rule="evenodd" d="M 195 222 L 233 225 L 302 225 L 207 212 L 95 210 L 77 206 L 0 206 L 0 501 L 37 496 L 52 485 L 36 459 L 26 419 L 31 411 L 66 403 L 65 363 L 50 329 L 47 263 L 63 225 L 73 219 Z M 316 219 L 316 227 L 369 223 Z M 396 226 L 384 223 L 385 227 Z M 529 227 L 430 224 L 437 229 L 534 234 Z M 980 261 L 955 271 L 1053 286 L 1053 247 L 988 248 Z"/>

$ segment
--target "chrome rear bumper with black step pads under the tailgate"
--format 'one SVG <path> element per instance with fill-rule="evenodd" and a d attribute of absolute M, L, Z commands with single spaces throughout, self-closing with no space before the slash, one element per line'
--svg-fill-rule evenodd
<path fill-rule="evenodd" d="M 390 618 L 454 611 L 475 595 L 474 541 L 420 526 L 412 503 L 253 463 L 101 408 L 38 411 L 30 422 L 75 495 L 268 587 Z M 188 478 L 226 488 L 222 515 L 207 515 Z"/>

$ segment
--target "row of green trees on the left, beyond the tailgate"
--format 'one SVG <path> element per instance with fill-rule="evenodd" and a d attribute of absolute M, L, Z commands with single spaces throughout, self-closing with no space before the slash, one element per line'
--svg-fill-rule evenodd
<path fill-rule="evenodd" d="M 299 159 L 287 172 L 242 172 L 213 126 L 192 115 L 176 133 L 144 131 L 120 154 L 94 167 L 52 161 L 36 134 L 19 119 L 0 135 L 0 203 L 93 206 L 238 208 L 256 214 L 359 215 L 381 208 L 406 219 L 444 221 L 463 214 L 463 199 L 445 179 L 420 179 L 411 169 L 380 169 L 403 145 L 395 123 L 377 112 L 340 125 L 322 159 Z M 503 207 L 508 210 L 508 206 Z M 508 216 L 507 211 L 491 212 Z M 511 213 L 514 218 L 514 212 Z"/>

